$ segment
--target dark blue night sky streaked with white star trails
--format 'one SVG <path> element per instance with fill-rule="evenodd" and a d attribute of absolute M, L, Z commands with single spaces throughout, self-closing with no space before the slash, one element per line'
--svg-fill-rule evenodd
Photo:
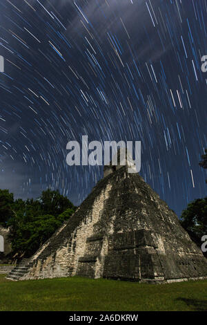
<path fill-rule="evenodd" d="M 0 188 L 79 205 L 103 167 L 69 140 L 141 141 L 141 176 L 180 215 L 206 196 L 206 0 L 0 0 Z"/>

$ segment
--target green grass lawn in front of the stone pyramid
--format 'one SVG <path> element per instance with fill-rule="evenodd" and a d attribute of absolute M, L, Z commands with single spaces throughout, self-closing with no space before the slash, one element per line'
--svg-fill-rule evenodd
<path fill-rule="evenodd" d="M 207 310 L 207 280 L 154 285 L 81 277 L 9 281 L 0 275 L 2 310 Z"/>

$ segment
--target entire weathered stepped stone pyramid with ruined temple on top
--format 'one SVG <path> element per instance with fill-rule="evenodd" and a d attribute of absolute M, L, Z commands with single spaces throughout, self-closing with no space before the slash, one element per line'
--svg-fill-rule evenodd
<path fill-rule="evenodd" d="M 120 162 L 120 160 L 119 160 Z M 69 221 L 10 279 L 90 277 L 169 283 L 207 277 L 207 259 L 134 168 L 104 176 Z"/>

